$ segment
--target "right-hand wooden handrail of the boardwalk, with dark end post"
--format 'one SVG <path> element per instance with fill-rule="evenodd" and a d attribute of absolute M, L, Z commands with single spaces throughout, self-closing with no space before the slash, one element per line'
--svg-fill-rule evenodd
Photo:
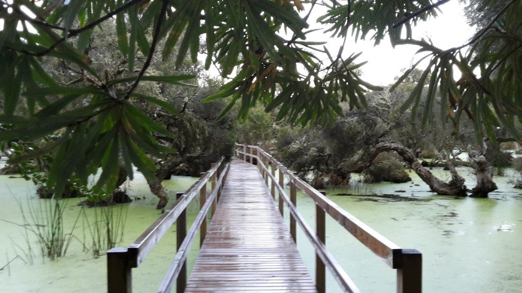
<path fill-rule="evenodd" d="M 297 210 L 295 209 L 295 205 L 288 199 L 288 196 L 286 193 L 284 193 L 284 190 L 282 189 L 282 180 L 281 178 L 284 178 L 284 175 L 286 175 L 290 180 L 290 185 L 295 186 L 302 190 L 307 196 L 312 198 L 314 202 L 316 203 L 316 209 L 323 210 L 328 215 L 330 215 L 332 218 L 334 218 L 343 228 L 345 228 L 350 234 L 352 234 L 355 238 L 357 238 L 361 243 L 363 243 L 364 246 L 369 248 L 374 254 L 376 254 L 378 257 L 380 257 L 382 260 L 384 260 L 390 267 L 397 269 L 397 292 L 399 293 L 419 293 L 421 292 L 422 287 L 422 255 L 419 251 L 414 249 L 401 249 L 399 246 L 397 246 L 394 242 L 388 240 L 383 235 L 377 233 L 377 231 L 373 230 L 371 227 L 367 226 L 363 222 L 361 222 L 358 218 L 354 217 L 350 213 L 343 210 L 339 205 L 328 199 L 326 196 L 324 196 L 321 192 L 317 191 L 315 188 L 307 184 L 305 181 L 300 179 L 299 177 L 295 176 L 293 172 L 291 172 L 288 168 L 286 168 L 284 165 L 282 165 L 280 162 L 278 162 L 273 156 L 266 153 L 264 150 L 259 148 L 255 145 L 243 145 L 243 144 L 236 144 L 241 147 L 241 149 L 245 150 L 246 148 L 250 148 L 250 153 L 242 152 L 240 150 L 236 150 L 236 153 L 242 154 L 245 158 L 250 156 L 252 158 L 256 158 L 257 164 L 259 165 L 260 172 L 263 174 L 263 176 L 268 181 L 268 178 L 271 179 L 272 186 L 277 185 L 277 189 L 279 192 L 280 198 L 282 198 L 289 207 L 290 214 L 293 218 L 295 218 L 296 221 L 299 223 L 299 217 L 294 217 L 294 213 L 292 210 L 295 210 L 297 213 Z M 246 148 L 245 148 L 246 147 Z M 253 155 L 253 149 L 256 150 L 257 155 Z M 253 161 L 251 159 L 251 161 Z M 266 162 L 266 163 L 265 163 Z M 273 172 L 270 174 L 268 172 L 268 168 L 266 167 L 266 164 L 269 164 L 272 166 L 272 171 L 274 166 L 277 166 L 279 169 L 279 178 L 280 182 L 277 184 L 276 178 Z M 290 203 L 290 204 L 289 204 Z M 281 202 L 279 203 L 280 210 L 282 209 Z M 282 210 L 281 210 L 282 211 Z M 303 228 L 303 231 L 305 232 L 305 235 L 309 237 L 309 234 L 311 233 L 311 230 L 305 229 L 301 223 L 299 223 L 301 228 Z M 310 227 L 309 227 L 310 228 Z M 293 235 L 292 235 L 293 236 Z M 311 234 L 310 237 L 317 235 Z M 340 272 L 334 272 L 333 269 L 335 269 L 335 265 L 333 263 L 328 264 L 328 262 L 331 262 L 332 260 L 328 259 L 325 260 L 325 254 L 321 251 L 321 246 L 314 245 L 315 240 L 312 240 L 309 237 L 309 240 L 312 242 L 312 245 L 314 248 L 316 248 L 317 257 L 321 258 L 325 266 L 328 267 L 330 272 L 334 275 L 334 277 L 337 279 L 338 283 L 343 287 L 345 290 L 348 291 L 346 288 L 346 284 L 349 284 L 351 280 L 345 280 L 343 281 L 342 278 L 346 275 L 344 271 Z M 314 237 L 313 237 L 314 238 Z M 322 241 L 319 241 L 323 243 Z M 324 246 L 324 243 L 323 243 Z M 319 250 L 318 250 L 319 249 Z M 325 247 L 326 249 L 326 247 Z M 331 255 L 328 254 L 330 257 Z M 333 258 L 333 257 L 332 257 Z M 340 268 L 340 266 L 339 266 Z M 342 270 L 342 268 L 341 268 Z M 336 275 L 337 274 L 337 275 Z M 346 275 L 347 277 L 348 275 Z M 339 279 L 341 280 L 339 280 Z M 357 288 L 357 287 L 355 287 Z M 318 288 L 319 289 L 319 288 Z M 358 289 L 357 289 L 358 290 Z"/>

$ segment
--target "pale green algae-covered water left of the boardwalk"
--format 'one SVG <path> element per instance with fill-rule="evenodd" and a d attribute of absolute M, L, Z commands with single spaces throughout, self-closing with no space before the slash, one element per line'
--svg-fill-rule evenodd
<path fill-rule="evenodd" d="M 51 261 L 41 257 L 37 239 L 29 233 L 29 241 L 24 236 L 20 206 L 26 210 L 29 205 L 38 209 L 39 204 L 48 200 L 40 200 L 34 194 L 34 186 L 30 181 L 19 178 L 0 176 L 0 292 L 106 292 L 106 255 L 102 252 L 94 258 L 92 252 L 84 251 L 84 244 L 89 245 L 89 230 L 82 223 L 81 215 L 73 231 L 75 238 L 71 241 L 65 257 Z M 172 198 L 175 193 L 185 191 L 197 178 L 174 176 L 165 180 L 164 186 Z M 114 207 L 114 212 L 126 214 L 124 239 L 120 246 L 130 245 L 160 215 L 156 210 L 157 199 L 150 193 L 148 185 L 140 174 L 135 175 L 129 195 L 134 201 Z M 82 207 L 77 206 L 81 199 L 66 200 L 64 226 L 69 233 Z M 171 200 L 173 202 L 173 200 Z M 45 206 L 45 205 L 44 205 Z M 188 210 L 188 221 L 197 214 L 197 203 L 191 203 Z M 92 225 L 94 209 L 85 209 L 89 224 Z M 29 215 L 26 215 L 29 217 Z M 9 222 L 6 222 L 9 221 Z M 191 222 L 189 222 L 191 223 Z M 76 238 L 77 237 L 77 238 Z M 195 241 L 198 242 L 198 241 Z M 133 289 L 135 292 L 155 291 L 170 266 L 176 252 L 175 227 L 152 250 L 145 262 L 133 269 Z M 34 252 L 32 263 L 28 257 L 29 246 Z M 189 253 L 189 268 L 197 255 L 198 245 L 194 245 Z M 20 255 L 17 257 L 17 255 Z M 10 264 L 6 266 L 9 262 Z"/>

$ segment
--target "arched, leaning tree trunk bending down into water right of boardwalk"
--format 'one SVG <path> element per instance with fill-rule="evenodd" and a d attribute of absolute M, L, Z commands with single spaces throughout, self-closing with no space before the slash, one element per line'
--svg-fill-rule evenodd
<path fill-rule="evenodd" d="M 381 142 L 376 145 L 375 151 L 366 162 L 365 168 L 369 167 L 375 157 L 382 152 L 395 151 L 410 165 L 410 167 L 419 175 L 422 181 L 426 182 L 433 192 L 437 194 L 443 194 L 448 196 L 465 197 L 466 186 L 464 185 L 464 179 L 458 175 L 454 166 L 450 166 L 450 172 L 452 173 L 452 180 L 444 182 L 435 177 L 428 169 L 424 168 L 411 150 L 406 146 L 396 142 Z"/>

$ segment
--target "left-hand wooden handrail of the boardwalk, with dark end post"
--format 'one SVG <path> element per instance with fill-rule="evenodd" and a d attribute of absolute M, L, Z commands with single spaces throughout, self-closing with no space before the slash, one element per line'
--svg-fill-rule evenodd
<path fill-rule="evenodd" d="M 110 293 L 132 292 L 132 268 L 138 267 L 140 263 L 144 261 L 145 257 L 157 245 L 161 237 L 167 233 L 168 229 L 177 221 L 180 215 L 186 212 L 188 204 L 196 197 L 196 194 L 200 194 L 201 189 L 206 188 L 207 182 L 209 180 L 213 181 L 213 179 L 216 178 L 216 174 L 218 174 L 219 180 L 216 182 L 216 185 L 212 184 L 213 188 L 211 191 L 211 196 L 213 195 L 213 197 L 212 199 L 209 197 L 204 207 L 200 211 L 200 214 L 205 212 L 204 215 L 206 217 L 206 214 L 208 213 L 207 206 L 211 206 L 213 201 L 217 200 L 217 194 L 221 192 L 222 184 L 227 178 L 227 172 L 229 170 L 230 164 L 227 164 L 225 167 L 223 167 L 223 163 L 224 157 L 221 157 L 221 159 L 206 173 L 202 174 L 199 180 L 197 180 L 185 193 L 183 193 L 181 196 L 178 196 L 174 204 L 172 204 L 168 210 L 161 214 L 161 216 L 152 225 L 150 225 L 145 230 L 145 232 L 142 233 L 132 243 L 131 246 L 124 248 L 113 248 L 107 252 L 108 291 Z M 196 221 L 198 221 L 198 219 L 196 219 L 195 222 Z M 199 228 L 200 225 L 201 223 L 197 225 L 197 228 Z M 189 237 L 193 237 L 193 234 L 191 233 L 192 228 L 187 234 L 188 236 L 184 237 L 183 243 L 185 243 Z M 191 239 L 190 243 L 192 243 L 192 240 L 193 239 Z M 183 246 L 183 243 L 182 246 L 180 246 L 178 254 L 180 254 L 180 252 L 183 253 L 183 251 L 188 249 Z M 176 257 L 178 254 L 176 254 Z M 177 270 L 174 280 L 179 275 L 185 260 L 186 255 L 185 258 L 182 258 L 180 268 Z"/>

